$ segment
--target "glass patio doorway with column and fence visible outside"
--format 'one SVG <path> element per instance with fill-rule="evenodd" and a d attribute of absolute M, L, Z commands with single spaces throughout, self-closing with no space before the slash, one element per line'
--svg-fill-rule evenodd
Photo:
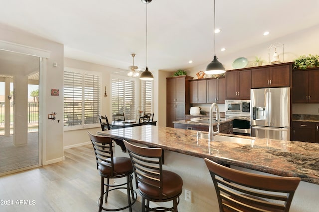
<path fill-rule="evenodd" d="M 0 175 L 39 166 L 40 57 L 0 50 Z"/>

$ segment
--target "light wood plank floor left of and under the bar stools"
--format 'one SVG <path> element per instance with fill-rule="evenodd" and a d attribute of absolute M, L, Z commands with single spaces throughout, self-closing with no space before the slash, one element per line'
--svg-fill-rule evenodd
<path fill-rule="evenodd" d="M 0 177 L 0 212 L 98 211 L 100 175 L 92 145 L 67 149 L 64 156 L 59 163 Z M 107 207 L 126 201 L 124 193 L 113 191 Z M 133 212 L 141 211 L 140 204 Z"/>

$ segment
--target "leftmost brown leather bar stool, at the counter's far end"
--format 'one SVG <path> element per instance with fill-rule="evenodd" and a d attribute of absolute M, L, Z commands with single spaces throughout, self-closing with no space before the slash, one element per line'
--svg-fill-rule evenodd
<path fill-rule="evenodd" d="M 132 205 L 135 203 L 137 194 L 133 190 L 132 179 L 133 179 L 133 167 L 130 158 L 128 157 L 114 157 L 113 156 L 113 147 L 114 144 L 109 136 L 96 136 L 89 134 L 90 140 L 93 144 L 95 157 L 96 157 L 96 166 L 99 170 L 101 176 L 101 194 L 98 200 L 99 212 L 105 211 L 120 211 L 126 208 L 130 209 L 132 212 Z M 126 177 L 126 182 L 120 185 L 110 184 L 110 179 Z M 104 182 L 104 178 L 107 179 L 107 182 Z M 126 185 L 126 187 L 125 187 Z M 106 191 L 104 187 L 106 186 Z M 108 194 L 110 191 L 116 189 L 126 189 L 127 190 L 127 199 L 128 205 L 123 206 L 118 209 L 104 208 L 103 207 L 103 197 L 105 194 L 105 202 L 107 202 Z M 131 201 L 132 198 L 132 201 Z"/>

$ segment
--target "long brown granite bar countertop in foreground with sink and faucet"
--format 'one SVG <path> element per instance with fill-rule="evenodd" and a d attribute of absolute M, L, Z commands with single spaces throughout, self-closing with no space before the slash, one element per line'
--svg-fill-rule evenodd
<path fill-rule="evenodd" d="M 252 147 L 227 141 L 209 143 L 206 139 L 190 137 L 196 133 L 194 130 L 152 125 L 98 132 L 114 139 L 126 139 L 279 176 L 298 176 L 302 181 L 319 184 L 319 144 L 232 135 L 255 139 Z"/>

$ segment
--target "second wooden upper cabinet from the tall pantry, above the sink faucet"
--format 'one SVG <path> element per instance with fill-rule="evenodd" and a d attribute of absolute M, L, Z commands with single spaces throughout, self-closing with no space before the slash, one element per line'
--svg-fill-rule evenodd
<path fill-rule="evenodd" d="M 225 78 L 207 80 L 207 103 L 225 103 Z"/>

